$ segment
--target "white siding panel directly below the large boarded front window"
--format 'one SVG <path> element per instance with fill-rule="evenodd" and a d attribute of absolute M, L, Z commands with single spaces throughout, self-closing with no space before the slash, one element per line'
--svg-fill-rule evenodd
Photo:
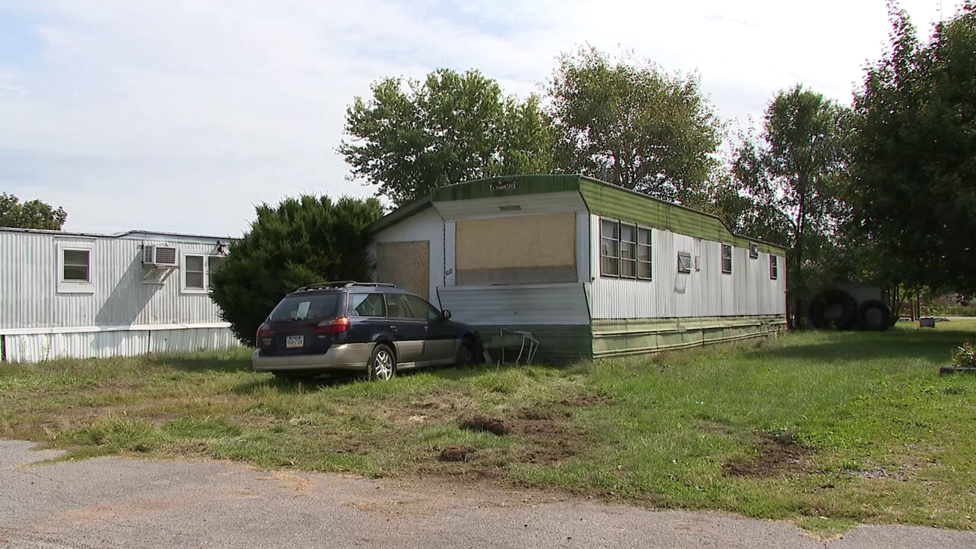
<path fill-rule="evenodd" d="M 474 325 L 589 324 L 586 284 L 453 286 L 437 288 L 441 305 Z"/>

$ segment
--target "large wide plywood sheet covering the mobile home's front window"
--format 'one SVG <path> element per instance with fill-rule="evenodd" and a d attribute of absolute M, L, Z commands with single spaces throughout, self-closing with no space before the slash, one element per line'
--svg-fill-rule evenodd
<path fill-rule="evenodd" d="M 458 285 L 575 282 L 576 213 L 458 221 Z"/>

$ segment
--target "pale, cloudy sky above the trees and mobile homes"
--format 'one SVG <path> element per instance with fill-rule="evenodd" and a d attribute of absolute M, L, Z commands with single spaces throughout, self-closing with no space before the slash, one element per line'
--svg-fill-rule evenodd
<path fill-rule="evenodd" d="M 335 149 L 384 76 L 478 68 L 521 97 L 589 43 L 698 71 L 734 129 L 796 83 L 849 103 L 889 28 L 884 0 L 0 0 L 0 191 L 66 231 L 238 236 L 255 204 L 375 192 Z"/>

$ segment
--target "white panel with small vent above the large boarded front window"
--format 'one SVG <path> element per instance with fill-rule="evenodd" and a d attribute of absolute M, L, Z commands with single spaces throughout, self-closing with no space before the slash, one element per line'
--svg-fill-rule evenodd
<path fill-rule="evenodd" d="M 445 221 L 588 211 L 587 204 L 583 201 L 583 195 L 575 190 L 469 200 L 444 200 L 434 202 L 433 205 Z M 514 209 L 516 206 L 518 209 Z M 503 207 L 507 209 L 502 210 Z"/>

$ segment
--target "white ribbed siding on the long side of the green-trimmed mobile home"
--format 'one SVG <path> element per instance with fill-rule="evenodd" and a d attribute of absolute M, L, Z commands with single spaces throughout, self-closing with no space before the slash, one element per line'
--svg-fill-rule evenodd
<path fill-rule="evenodd" d="M 594 241 L 599 217 L 592 216 Z M 732 274 L 721 272 L 721 243 L 685 234 L 656 230 L 653 242 L 653 280 L 599 276 L 599 250 L 590 261 L 597 266 L 592 282 L 593 318 L 738 317 L 785 315 L 786 269 L 769 278 L 769 254 L 749 258 L 746 248 L 733 248 Z M 597 246 L 594 244 L 594 248 Z M 700 254 L 701 269 L 678 274 L 677 253 Z"/>

